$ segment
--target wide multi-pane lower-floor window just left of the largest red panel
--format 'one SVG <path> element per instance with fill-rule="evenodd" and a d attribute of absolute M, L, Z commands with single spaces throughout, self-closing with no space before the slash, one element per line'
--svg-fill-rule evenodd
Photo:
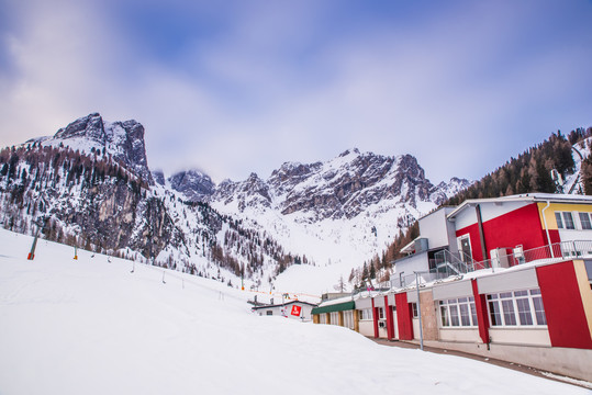
<path fill-rule="evenodd" d="M 547 325 L 540 290 L 523 290 L 488 295 L 491 326 Z"/>

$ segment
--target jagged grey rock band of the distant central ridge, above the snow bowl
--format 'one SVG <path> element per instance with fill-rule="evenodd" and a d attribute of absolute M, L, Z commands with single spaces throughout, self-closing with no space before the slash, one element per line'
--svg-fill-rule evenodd
<path fill-rule="evenodd" d="M 267 181 L 256 174 L 243 182 L 224 181 L 210 202 L 227 206 L 237 200 L 241 212 L 259 205 L 283 215 L 304 213 L 308 221 L 317 222 L 353 218 L 384 202 L 390 202 L 386 207 L 439 204 L 469 184 L 453 179 L 449 184 L 434 187 L 411 155 L 386 157 L 351 149 L 326 162 L 286 162 Z"/>

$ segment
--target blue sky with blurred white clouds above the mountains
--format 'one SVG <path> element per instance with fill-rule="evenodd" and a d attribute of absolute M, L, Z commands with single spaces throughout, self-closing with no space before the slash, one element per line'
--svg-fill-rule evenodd
<path fill-rule="evenodd" d="M 592 126 L 591 24 L 591 0 L 0 0 L 0 146 L 100 112 L 167 174 L 358 147 L 478 179 Z"/>

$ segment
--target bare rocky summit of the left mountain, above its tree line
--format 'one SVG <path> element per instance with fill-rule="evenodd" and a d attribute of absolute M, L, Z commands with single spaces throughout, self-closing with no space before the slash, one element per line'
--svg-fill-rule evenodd
<path fill-rule="evenodd" d="M 125 122 L 104 122 L 94 113 L 78 119 L 60 128 L 51 138 L 42 140 L 44 145 L 64 144 L 72 149 L 91 149 L 107 153 L 139 176 L 148 184 L 154 184 L 144 143 L 144 126 L 134 120 Z"/>

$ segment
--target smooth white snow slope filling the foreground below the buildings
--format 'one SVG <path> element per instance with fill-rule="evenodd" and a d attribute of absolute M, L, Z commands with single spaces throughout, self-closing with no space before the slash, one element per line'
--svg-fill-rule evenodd
<path fill-rule="evenodd" d="M 0 394 L 590 394 L 345 328 L 246 292 L 0 230 Z"/>

